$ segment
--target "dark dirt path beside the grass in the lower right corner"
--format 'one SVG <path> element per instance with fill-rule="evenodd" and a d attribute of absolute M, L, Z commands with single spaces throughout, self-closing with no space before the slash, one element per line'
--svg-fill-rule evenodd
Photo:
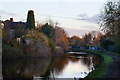
<path fill-rule="evenodd" d="M 108 72 L 104 78 L 109 78 L 110 80 L 120 80 L 120 57 L 103 53 L 105 55 L 111 56 L 114 60 L 108 66 Z"/>

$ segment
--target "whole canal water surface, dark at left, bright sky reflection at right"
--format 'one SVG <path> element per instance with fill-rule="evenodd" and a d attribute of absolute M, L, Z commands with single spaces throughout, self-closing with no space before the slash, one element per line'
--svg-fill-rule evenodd
<path fill-rule="evenodd" d="M 59 78 L 85 78 L 95 70 L 102 58 L 94 54 L 67 54 L 55 58 L 32 58 L 3 61 L 3 78 L 23 78 L 36 80 Z"/>

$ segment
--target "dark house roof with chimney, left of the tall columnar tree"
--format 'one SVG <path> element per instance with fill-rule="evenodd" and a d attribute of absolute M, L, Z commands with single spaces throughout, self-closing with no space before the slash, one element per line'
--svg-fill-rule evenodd
<path fill-rule="evenodd" d="M 10 20 L 5 20 L 3 22 L 4 28 L 15 29 L 18 25 L 21 25 L 22 28 L 26 28 L 26 22 L 13 22 L 13 18 Z"/>

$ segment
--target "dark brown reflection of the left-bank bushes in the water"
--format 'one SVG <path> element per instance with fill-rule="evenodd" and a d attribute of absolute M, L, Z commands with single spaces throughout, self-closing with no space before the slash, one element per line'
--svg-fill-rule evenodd
<path fill-rule="evenodd" d="M 3 62 L 3 76 L 6 78 L 33 78 L 42 76 L 50 64 L 50 59 L 24 59 Z"/>

